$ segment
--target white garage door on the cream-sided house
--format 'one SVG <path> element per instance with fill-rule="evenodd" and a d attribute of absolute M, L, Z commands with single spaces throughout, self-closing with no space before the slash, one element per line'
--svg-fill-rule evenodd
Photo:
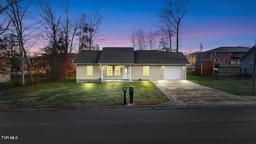
<path fill-rule="evenodd" d="M 164 66 L 164 80 L 182 80 L 182 66 Z"/>

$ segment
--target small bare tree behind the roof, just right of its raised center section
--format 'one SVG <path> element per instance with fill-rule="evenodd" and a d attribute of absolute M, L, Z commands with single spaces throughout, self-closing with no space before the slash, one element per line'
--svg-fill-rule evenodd
<path fill-rule="evenodd" d="M 138 50 L 146 50 L 148 47 L 144 30 L 139 29 L 135 33 L 136 47 Z"/>

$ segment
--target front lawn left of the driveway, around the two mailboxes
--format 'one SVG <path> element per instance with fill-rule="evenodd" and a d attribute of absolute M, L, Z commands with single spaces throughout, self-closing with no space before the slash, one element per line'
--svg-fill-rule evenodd
<path fill-rule="evenodd" d="M 88 82 L 76 84 L 68 78 L 58 82 L 46 82 L 16 88 L 2 88 L 0 109 L 54 108 L 76 106 L 122 106 L 123 86 L 134 86 L 134 104 L 156 105 L 169 99 L 152 82 Z M 1 85 L 0 85 L 1 87 Z M 126 103 L 130 102 L 129 91 Z"/>

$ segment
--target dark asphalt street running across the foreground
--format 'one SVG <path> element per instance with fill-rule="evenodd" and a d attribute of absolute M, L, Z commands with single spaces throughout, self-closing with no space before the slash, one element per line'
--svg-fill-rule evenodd
<path fill-rule="evenodd" d="M 1 144 L 255 144 L 256 108 L 0 113 Z"/>

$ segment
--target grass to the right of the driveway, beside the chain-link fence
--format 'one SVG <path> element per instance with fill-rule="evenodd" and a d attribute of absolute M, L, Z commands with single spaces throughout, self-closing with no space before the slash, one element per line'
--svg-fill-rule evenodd
<path fill-rule="evenodd" d="M 244 75 L 241 74 L 234 74 L 232 77 L 230 75 L 219 74 L 219 78 L 217 79 L 217 76 L 187 74 L 187 80 L 216 90 L 256 100 L 256 95 L 252 96 L 252 76 L 246 76 L 244 78 Z"/>

